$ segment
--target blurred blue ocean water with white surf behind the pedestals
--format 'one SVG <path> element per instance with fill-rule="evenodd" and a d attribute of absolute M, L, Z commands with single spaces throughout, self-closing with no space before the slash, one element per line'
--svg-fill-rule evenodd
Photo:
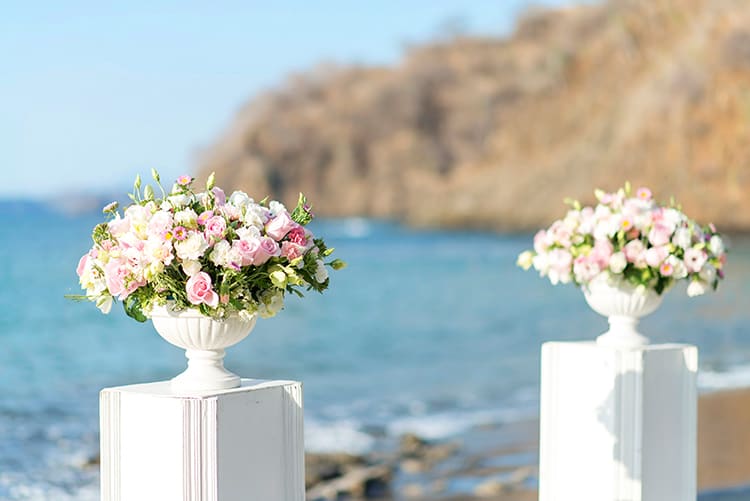
<path fill-rule="evenodd" d="M 98 499 L 98 392 L 179 373 L 181 350 L 121 308 L 102 315 L 75 266 L 98 216 L 0 206 L 0 499 Z M 413 431 L 447 438 L 538 411 L 539 347 L 606 329 L 574 287 L 514 265 L 530 235 L 414 231 L 359 219 L 313 230 L 349 267 L 324 295 L 289 298 L 231 348 L 244 377 L 305 385 L 309 450 L 364 452 Z M 750 240 L 728 280 L 689 299 L 676 287 L 642 322 L 654 342 L 701 350 L 702 389 L 750 384 Z"/>

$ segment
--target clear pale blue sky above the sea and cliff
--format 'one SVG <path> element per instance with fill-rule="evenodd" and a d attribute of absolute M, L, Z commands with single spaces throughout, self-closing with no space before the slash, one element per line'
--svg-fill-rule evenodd
<path fill-rule="evenodd" d="M 446 26 L 507 33 L 526 0 L 3 3 L 0 198 L 194 172 L 240 106 L 319 62 L 392 64 Z M 543 0 L 557 5 L 570 0 Z"/>

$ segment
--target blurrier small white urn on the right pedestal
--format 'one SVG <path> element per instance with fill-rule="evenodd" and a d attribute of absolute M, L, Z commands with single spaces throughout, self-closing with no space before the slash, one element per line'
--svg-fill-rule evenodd
<path fill-rule="evenodd" d="M 596 338 L 597 344 L 621 349 L 648 344 L 648 338 L 638 332 L 638 322 L 661 304 L 662 296 L 656 291 L 601 278 L 584 286 L 583 294 L 591 309 L 609 320 L 609 330 Z"/>

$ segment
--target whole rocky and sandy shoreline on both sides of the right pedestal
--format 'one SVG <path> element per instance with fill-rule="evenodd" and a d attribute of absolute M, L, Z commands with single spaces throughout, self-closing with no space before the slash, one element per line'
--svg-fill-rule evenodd
<path fill-rule="evenodd" d="M 698 404 L 701 500 L 750 499 L 750 389 L 702 395 Z M 356 456 L 308 453 L 308 501 L 379 499 L 536 500 L 538 422 L 478 427 L 447 441 L 413 434 L 392 451 Z M 724 496 L 724 497 L 722 497 Z"/>

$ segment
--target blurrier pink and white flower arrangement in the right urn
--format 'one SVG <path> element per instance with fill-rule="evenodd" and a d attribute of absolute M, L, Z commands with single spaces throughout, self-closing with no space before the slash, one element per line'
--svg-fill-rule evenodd
<path fill-rule="evenodd" d="M 724 278 L 726 250 L 713 224 L 702 227 L 672 202 L 656 203 L 648 188 L 631 193 L 596 190 L 596 207 L 566 200 L 570 210 L 534 236 L 534 250 L 518 256 L 552 284 L 586 286 L 594 280 L 624 280 L 662 294 L 676 280 L 697 296 Z"/>

